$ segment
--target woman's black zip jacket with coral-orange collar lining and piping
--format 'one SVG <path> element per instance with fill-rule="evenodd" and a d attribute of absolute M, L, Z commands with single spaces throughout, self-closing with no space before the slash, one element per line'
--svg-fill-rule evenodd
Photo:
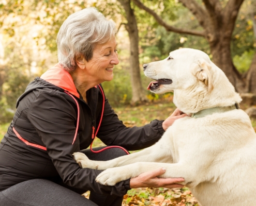
<path fill-rule="evenodd" d="M 45 74 L 43 76 L 47 81 L 37 77 L 18 99 L 13 121 L 1 141 L 0 191 L 30 179 L 61 176 L 63 182 L 72 187 L 101 194 L 126 194 L 129 180 L 115 186 L 101 185 L 95 181 L 101 171 L 81 169 L 73 160 L 72 153 L 86 149 L 91 144 L 92 127 L 98 128 L 103 101 L 104 113 L 97 137 L 106 145 L 118 145 L 128 150 L 153 145 L 164 132 L 162 121 L 154 120 L 144 127 L 127 128 L 119 121 L 108 99 L 102 96 L 99 85 L 87 91 L 86 104 L 74 88 L 71 76 L 58 64 Z M 54 80 L 49 78 L 51 76 Z M 77 136 L 74 136 L 78 119 L 77 104 L 64 90 L 74 94 L 72 96 L 79 104 Z"/>

